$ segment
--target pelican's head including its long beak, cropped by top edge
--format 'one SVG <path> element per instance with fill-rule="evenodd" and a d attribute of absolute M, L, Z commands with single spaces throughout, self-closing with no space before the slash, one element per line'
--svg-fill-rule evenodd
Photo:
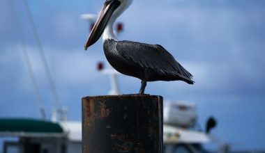
<path fill-rule="evenodd" d="M 86 45 L 84 45 L 84 49 L 86 50 L 88 47 L 93 45 L 98 41 L 100 36 L 102 35 L 105 27 L 107 26 L 109 19 L 116 19 L 121 13 L 123 13 L 128 6 L 130 6 L 132 0 L 106 0 L 103 8 L 100 11 L 100 15 L 96 21 L 96 24 L 93 26 L 93 29 L 89 35 L 89 39 L 86 41 Z"/>

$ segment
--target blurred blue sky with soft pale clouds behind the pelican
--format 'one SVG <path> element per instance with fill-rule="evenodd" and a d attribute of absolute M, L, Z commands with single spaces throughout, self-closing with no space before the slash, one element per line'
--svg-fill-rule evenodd
<path fill-rule="evenodd" d="M 40 118 L 9 0 L 0 1 L 0 117 Z M 107 76 L 96 70 L 105 61 L 102 41 L 84 51 L 88 23 L 103 1 L 28 0 L 62 106 L 70 120 L 81 120 L 81 97 L 105 95 Z M 146 7 L 148 6 L 148 7 Z M 120 40 L 160 44 L 194 75 L 195 84 L 148 83 L 146 93 L 197 104 L 199 122 L 218 120 L 213 134 L 234 150 L 265 150 L 265 1 L 135 0 L 119 17 Z M 54 100 L 23 1 L 15 11 L 33 72 L 50 117 Z M 135 93 L 140 81 L 119 76 L 121 92 Z"/>

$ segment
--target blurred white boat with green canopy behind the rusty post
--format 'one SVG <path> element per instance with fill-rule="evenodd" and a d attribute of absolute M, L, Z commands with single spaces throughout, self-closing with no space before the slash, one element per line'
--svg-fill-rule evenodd
<path fill-rule="evenodd" d="M 192 129 L 197 112 L 193 104 L 166 102 L 164 153 L 206 152 L 213 137 Z M 0 136 L 15 138 L 3 143 L 3 153 L 81 153 L 82 122 L 35 119 L 0 119 Z"/>

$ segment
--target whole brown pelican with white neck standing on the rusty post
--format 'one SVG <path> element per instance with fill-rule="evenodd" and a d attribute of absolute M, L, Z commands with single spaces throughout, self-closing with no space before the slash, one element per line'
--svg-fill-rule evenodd
<path fill-rule="evenodd" d="M 113 31 L 114 22 L 131 3 L 132 0 L 106 0 L 84 49 L 93 45 L 103 34 L 107 61 L 118 72 L 142 80 L 139 94 L 144 94 L 146 81 L 179 80 L 193 84 L 192 74 L 164 47 L 116 38 Z"/>

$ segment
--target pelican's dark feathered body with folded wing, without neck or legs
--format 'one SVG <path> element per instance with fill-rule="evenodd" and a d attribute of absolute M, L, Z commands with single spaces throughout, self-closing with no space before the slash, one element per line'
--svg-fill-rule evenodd
<path fill-rule="evenodd" d="M 191 74 L 160 45 L 106 40 L 107 61 L 117 71 L 143 81 L 183 80 L 192 83 Z"/>

